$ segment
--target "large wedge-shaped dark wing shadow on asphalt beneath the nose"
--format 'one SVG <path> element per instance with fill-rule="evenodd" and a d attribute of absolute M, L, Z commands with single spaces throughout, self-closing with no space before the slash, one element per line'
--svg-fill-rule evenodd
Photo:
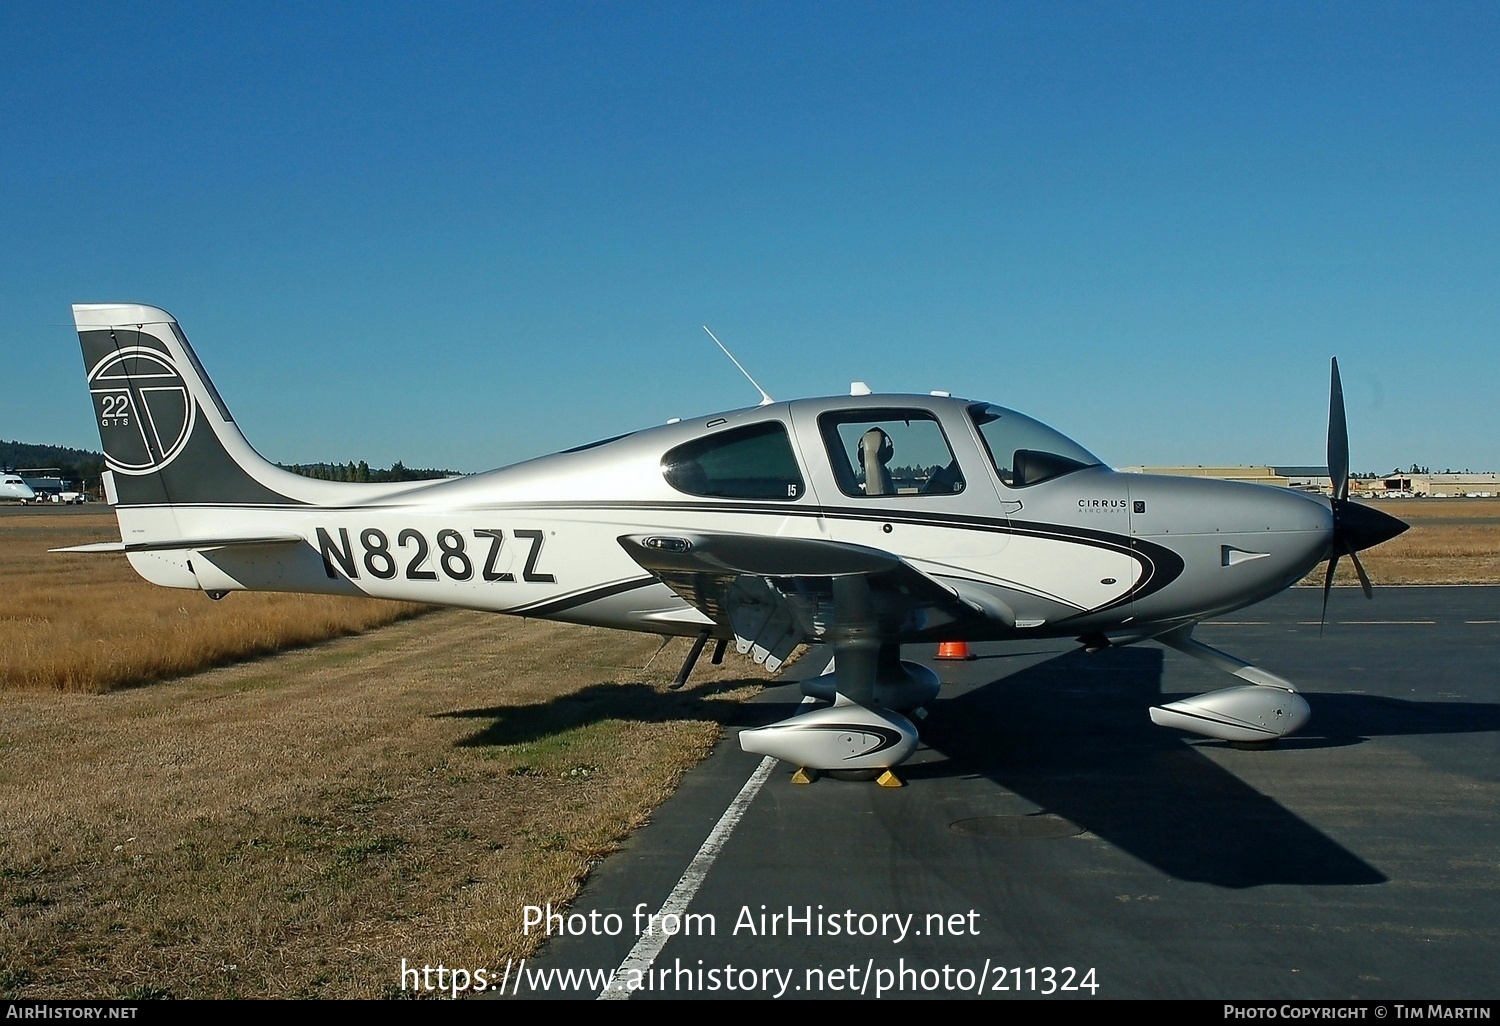
<path fill-rule="evenodd" d="M 1161 674 L 1155 648 L 1078 651 L 934 702 L 922 738 L 948 760 L 906 776 L 921 786 L 922 777 L 982 774 L 1182 880 L 1226 888 L 1386 882 L 1275 798 L 1152 724 L 1148 710 L 1162 700 Z M 1254 753 L 1304 754 L 1312 753 Z"/>

